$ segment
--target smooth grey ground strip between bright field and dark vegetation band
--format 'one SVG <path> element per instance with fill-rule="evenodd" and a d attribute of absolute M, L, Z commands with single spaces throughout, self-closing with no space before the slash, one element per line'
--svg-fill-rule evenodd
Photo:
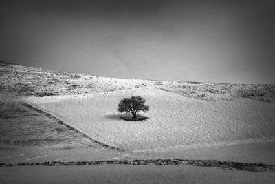
<path fill-rule="evenodd" d="M 19 145 L 0 145 L 0 163 L 43 163 L 45 161 L 103 161 L 135 159 L 189 159 L 219 160 L 239 163 L 263 163 L 275 165 L 275 141 L 242 143 L 236 145 L 219 145 L 188 149 L 120 152 L 108 148 L 74 147 L 46 148 L 22 147 Z M 65 145 L 64 145 L 65 147 Z"/>

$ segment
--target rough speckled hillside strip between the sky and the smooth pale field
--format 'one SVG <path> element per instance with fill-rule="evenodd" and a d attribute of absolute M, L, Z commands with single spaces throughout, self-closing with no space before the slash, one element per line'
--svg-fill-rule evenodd
<path fill-rule="evenodd" d="M 14 96 L 89 94 L 152 86 L 197 99 L 248 97 L 275 103 L 274 84 L 257 85 L 115 79 L 56 72 L 0 62 L 0 92 Z"/>

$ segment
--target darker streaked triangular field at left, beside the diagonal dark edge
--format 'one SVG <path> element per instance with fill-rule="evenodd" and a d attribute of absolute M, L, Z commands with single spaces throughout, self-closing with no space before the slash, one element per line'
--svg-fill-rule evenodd
<path fill-rule="evenodd" d="M 74 130 L 20 103 L 10 102 L 1 105 L 1 144 L 56 148 L 66 145 L 67 149 L 96 146 Z"/>

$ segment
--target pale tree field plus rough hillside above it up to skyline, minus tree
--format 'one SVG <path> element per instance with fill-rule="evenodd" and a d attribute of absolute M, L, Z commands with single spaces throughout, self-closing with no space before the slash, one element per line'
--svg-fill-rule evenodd
<path fill-rule="evenodd" d="M 111 79 L 8 63 L 0 63 L 0 72 L 2 94 L 23 97 L 114 147 L 144 150 L 274 137 L 275 85 Z M 147 121 L 120 119 L 118 102 L 132 95 L 148 100 Z"/>

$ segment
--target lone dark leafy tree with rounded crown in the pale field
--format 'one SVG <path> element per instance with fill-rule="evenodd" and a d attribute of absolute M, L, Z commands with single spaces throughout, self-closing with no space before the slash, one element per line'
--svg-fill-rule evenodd
<path fill-rule="evenodd" d="M 124 98 L 118 104 L 118 112 L 129 112 L 133 115 L 133 119 L 137 118 L 137 112 L 146 112 L 149 110 L 149 105 L 144 105 L 146 102 L 140 96 L 131 96 L 131 98 Z"/>

